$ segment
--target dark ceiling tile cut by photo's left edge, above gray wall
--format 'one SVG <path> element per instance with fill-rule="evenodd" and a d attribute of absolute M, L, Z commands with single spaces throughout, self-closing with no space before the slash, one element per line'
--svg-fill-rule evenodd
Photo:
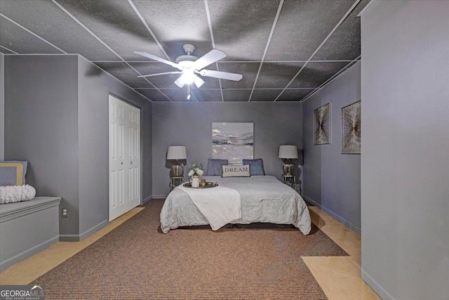
<path fill-rule="evenodd" d="M 19 54 L 63 53 L 3 17 L 0 17 L 0 28 L 0 45 L 5 46 L 6 48 L 9 48 Z M 24 43 L 24 41 L 26 42 Z"/>

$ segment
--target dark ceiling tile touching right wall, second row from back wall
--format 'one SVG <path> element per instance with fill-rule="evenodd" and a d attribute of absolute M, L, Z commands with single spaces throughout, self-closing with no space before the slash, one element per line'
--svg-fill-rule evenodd
<path fill-rule="evenodd" d="M 347 62 L 308 63 L 288 88 L 317 88 L 347 64 Z"/>

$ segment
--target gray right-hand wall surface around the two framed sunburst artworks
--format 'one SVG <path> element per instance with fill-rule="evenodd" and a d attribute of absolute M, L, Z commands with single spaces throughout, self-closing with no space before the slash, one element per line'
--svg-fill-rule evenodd
<path fill-rule="evenodd" d="M 302 195 L 360 234 L 361 155 L 341 154 L 341 109 L 358 100 L 361 100 L 360 63 L 304 101 Z M 314 145 L 314 110 L 327 103 L 330 103 L 330 144 Z"/>

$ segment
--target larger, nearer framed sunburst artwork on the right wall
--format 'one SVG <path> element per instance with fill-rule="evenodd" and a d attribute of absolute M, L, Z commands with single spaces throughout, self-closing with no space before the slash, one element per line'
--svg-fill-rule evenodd
<path fill-rule="evenodd" d="M 360 154 L 361 129 L 361 101 L 342 107 L 342 154 Z"/>

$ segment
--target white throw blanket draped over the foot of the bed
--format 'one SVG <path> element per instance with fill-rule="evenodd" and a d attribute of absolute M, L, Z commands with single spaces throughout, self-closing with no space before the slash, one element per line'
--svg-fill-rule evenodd
<path fill-rule="evenodd" d="M 241 218 L 240 194 L 232 188 L 185 188 L 182 185 L 177 188 L 189 195 L 212 230 L 218 230 Z"/>

